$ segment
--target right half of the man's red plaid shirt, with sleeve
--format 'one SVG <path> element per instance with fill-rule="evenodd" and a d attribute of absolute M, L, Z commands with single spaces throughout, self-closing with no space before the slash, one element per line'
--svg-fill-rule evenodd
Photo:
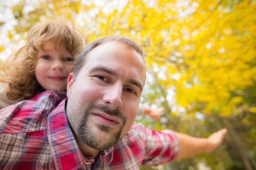
<path fill-rule="evenodd" d="M 152 130 L 135 122 L 114 146 L 111 163 L 107 165 L 103 161 L 101 169 L 137 170 L 141 165 L 158 166 L 175 160 L 178 151 L 175 132 Z"/>

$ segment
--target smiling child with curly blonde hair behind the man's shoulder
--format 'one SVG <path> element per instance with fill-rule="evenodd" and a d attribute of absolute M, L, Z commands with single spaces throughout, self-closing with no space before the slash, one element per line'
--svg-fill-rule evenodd
<path fill-rule="evenodd" d="M 66 21 L 46 20 L 34 25 L 25 46 L 2 65 L 0 108 L 45 90 L 65 91 L 82 49 L 82 33 Z"/>

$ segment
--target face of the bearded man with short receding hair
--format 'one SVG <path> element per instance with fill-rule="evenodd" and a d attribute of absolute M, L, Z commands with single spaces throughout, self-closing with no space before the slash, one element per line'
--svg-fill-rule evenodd
<path fill-rule="evenodd" d="M 67 118 L 76 137 L 95 150 L 111 148 L 137 115 L 145 81 L 141 55 L 125 44 L 106 42 L 88 53 L 67 84 Z"/>

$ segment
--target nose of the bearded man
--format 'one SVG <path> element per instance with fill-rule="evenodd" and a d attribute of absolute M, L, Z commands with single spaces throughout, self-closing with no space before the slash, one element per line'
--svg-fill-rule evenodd
<path fill-rule="evenodd" d="M 122 93 L 123 85 L 121 82 L 111 84 L 106 88 L 103 102 L 110 105 L 111 109 L 121 108 L 123 106 Z"/>

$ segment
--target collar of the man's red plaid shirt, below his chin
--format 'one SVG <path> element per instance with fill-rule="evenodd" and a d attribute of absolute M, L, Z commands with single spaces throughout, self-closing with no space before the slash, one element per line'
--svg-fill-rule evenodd
<path fill-rule="evenodd" d="M 70 167 L 68 168 L 71 169 L 74 167 L 79 168 L 84 164 L 90 165 L 91 163 L 94 163 L 94 158 L 83 157 L 82 152 L 74 139 L 65 112 L 66 101 L 67 98 L 63 100 L 47 118 L 47 136 L 53 153 L 54 162 L 56 166 L 62 165 L 65 161 L 69 162 Z M 101 166 L 102 157 L 105 157 L 104 159 L 110 163 L 113 160 L 113 148 L 99 153 L 99 159 L 95 162 L 98 167 Z M 73 160 L 71 161 L 71 159 Z M 63 167 L 56 168 L 61 169 Z"/>

